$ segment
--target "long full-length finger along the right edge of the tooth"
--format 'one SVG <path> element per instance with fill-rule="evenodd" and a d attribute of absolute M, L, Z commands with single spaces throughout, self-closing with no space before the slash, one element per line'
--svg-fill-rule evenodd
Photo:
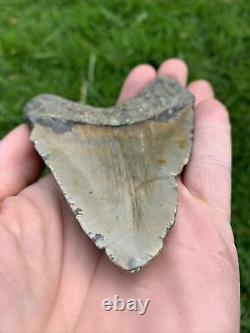
<path fill-rule="evenodd" d="M 215 99 L 205 100 L 196 107 L 193 150 L 183 181 L 195 196 L 229 212 L 230 122 L 225 106 Z"/>

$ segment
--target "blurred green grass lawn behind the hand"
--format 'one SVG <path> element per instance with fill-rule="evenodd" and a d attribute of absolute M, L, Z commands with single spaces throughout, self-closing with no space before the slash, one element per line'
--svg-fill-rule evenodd
<path fill-rule="evenodd" d="M 0 0 L 0 136 L 41 92 L 79 100 L 84 81 L 88 103 L 113 104 L 139 63 L 180 57 L 191 80 L 212 82 L 232 122 L 242 332 L 250 332 L 249 18 L 248 0 Z"/>

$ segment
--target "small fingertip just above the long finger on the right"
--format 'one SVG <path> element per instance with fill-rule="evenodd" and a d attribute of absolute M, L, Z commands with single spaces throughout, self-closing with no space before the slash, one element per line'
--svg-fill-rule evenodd
<path fill-rule="evenodd" d="M 214 97 L 213 88 L 206 80 L 194 81 L 187 88 L 195 98 L 195 105 Z"/>

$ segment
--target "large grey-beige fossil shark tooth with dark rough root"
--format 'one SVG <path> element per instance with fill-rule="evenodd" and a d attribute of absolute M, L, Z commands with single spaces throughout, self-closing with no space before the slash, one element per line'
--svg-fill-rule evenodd
<path fill-rule="evenodd" d="M 108 257 L 135 272 L 162 249 L 192 147 L 193 96 L 158 78 L 136 97 L 95 108 L 53 95 L 25 107 L 31 140 L 77 221 Z"/>

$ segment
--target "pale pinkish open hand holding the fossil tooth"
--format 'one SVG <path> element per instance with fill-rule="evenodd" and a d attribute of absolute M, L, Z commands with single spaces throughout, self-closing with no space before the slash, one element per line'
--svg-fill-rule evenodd
<path fill-rule="evenodd" d="M 187 84 L 178 59 L 158 71 L 139 65 L 118 102 L 157 76 Z M 230 226 L 228 112 L 211 85 L 187 85 L 196 99 L 191 160 L 179 178 L 176 224 L 161 254 L 141 272 L 112 264 L 82 232 L 21 125 L 0 141 L 0 331 L 239 331 L 239 267 Z M 84 189 L 83 189 L 84 190 Z M 167 200 L 167 198 L 166 198 Z M 137 312 L 104 311 L 103 299 L 147 299 Z"/>

